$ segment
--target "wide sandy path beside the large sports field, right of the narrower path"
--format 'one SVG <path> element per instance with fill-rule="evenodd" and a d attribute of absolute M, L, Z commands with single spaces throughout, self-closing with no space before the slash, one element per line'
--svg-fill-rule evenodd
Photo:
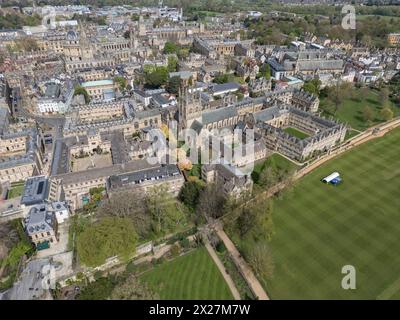
<path fill-rule="evenodd" d="M 250 266 L 242 258 L 239 251 L 236 249 L 231 239 L 226 235 L 220 224 L 215 225 L 215 231 L 219 238 L 224 242 L 226 249 L 231 254 L 233 261 L 238 267 L 240 273 L 243 275 L 253 294 L 258 300 L 269 300 L 267 293 L 254 275 L 253 270 L 251 270 Z"/>

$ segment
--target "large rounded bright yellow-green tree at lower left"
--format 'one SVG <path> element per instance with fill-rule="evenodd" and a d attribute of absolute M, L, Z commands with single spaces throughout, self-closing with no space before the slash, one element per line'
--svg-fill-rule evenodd
<path fill-rule="evenodd" d="M 89 267 L 99 266 L 113 256 L 127 259 L 135 253 L 137 239 L 132 220 L 106 217 L 92 223 L 78 235 L 78 257 Z"/>

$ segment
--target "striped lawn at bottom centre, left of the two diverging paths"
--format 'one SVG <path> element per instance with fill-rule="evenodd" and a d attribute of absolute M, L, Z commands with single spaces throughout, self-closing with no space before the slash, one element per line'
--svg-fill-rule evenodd
<path fill-rule="evenodd" d="M 233 299 L 222 274 L 205 248 L 165 262 L 140 279 L 161 299 Z"/>

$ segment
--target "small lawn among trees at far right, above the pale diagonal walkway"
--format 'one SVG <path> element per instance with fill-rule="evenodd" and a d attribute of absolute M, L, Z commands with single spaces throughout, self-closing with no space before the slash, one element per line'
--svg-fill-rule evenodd
<path fill-rule="evenodd" d="M 368 128 L 368 124 L 363 119 L 363 110 L 369 106 L 374 112 L 374 119 L 371 125 L 378 124 L 382 122 L 379 116 L 379 111 L 381 110 L 379 92 L 376 90 L 370 90 L 367 97 L 358 97 L 360 91 L 355 89 L 356 98 L 348 98 L 344 101 L 343 105 L 334 115 L 341 122 L 349 124 L 353 129 L 365 130 Z M 324 109 L 327 101 L 326 98 L 321 98 L 321 109 Z M 400 115 L 400 107 L 391 104 L 394 115 Z M 327 116 L 332 116 L 330 114 L 325 114 Z"/>

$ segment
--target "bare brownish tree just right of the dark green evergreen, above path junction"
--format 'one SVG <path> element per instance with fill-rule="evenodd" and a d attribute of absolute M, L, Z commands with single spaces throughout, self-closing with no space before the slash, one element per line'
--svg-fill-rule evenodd
<path fill-rule="evenodd" d="M 223 214 L 225 201 L 220 186 L 215 183 L 207 184 L 200 193 L 196 211 L 206 218 L 219 218 Z"/>

